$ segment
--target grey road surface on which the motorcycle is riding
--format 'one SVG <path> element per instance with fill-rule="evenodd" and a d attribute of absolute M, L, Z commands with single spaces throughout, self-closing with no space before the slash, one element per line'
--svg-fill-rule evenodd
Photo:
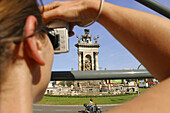
<path fill-rule="evenodd" d="M 99 105 L 102 108 L 102 111 L 106 111 L 111 107 L 117 105 Z M 34 113 L 83 113 L 83 105 L 34 105 Z"/>

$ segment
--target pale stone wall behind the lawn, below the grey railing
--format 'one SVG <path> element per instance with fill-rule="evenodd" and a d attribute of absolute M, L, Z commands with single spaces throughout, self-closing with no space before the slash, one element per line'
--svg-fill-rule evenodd
<path fill-rule="evenodd" d="M 48 87 L 45 94 L 50 95 L 120 95 L 137 93 L 138 87 L 125 86 L 119 84 L 113 85 L 98 85 L 98 86 L 82 86 L 80 87 L 63 87 L 56 85 L 54 87 Z"/>

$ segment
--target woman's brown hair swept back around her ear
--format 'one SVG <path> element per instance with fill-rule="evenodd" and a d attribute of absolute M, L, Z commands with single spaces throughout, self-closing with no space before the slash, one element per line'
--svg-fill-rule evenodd
<path fill-rule="evenodd" d="M 40 0 L 42 3 L 42 0 Z M 37 30 L 43 25 L 41 12 L 36 0 L 0 0 L 0 69 L 3 62 L 11 59 L 11 43 L 1 42 L 2 39 L 21 37 L 24 35 L 24 25 L 29 15 L 37 18 Z M 1 75 L 0 70 L 0 75 Z"/>

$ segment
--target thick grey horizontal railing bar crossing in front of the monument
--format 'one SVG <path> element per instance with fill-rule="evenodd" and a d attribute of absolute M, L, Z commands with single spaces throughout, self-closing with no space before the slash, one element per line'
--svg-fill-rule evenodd
<path fill-rule="evenodd" d="M 51 81 L 153 78 L 147 70 L 53 71 Z"/>

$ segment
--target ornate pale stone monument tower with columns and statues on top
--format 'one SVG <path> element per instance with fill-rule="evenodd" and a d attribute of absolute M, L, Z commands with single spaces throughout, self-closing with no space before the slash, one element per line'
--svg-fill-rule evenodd
<path fill-rule="evenodd" d="M 85 35 L 81 35 L 78 38 L 78 43 L 75 45 L 77 47 L 78 53 L 78 70 L 79 71 L 91 71 L 99 70 L 98 65 L 98 48 L 100 45 L 97 43 L 99 36 L 94 37 L 94 44 L 92 43 L 92 36 L 89 35 L 90 30 L 85 29 Z"/>

